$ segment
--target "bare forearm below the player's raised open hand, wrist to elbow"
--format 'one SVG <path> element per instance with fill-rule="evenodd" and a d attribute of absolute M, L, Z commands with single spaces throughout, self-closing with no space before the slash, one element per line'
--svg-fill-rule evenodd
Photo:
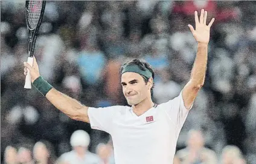
<path fill-rule="evenodd" d="M 198 43 L 196 59 L 191 71 L 190 81 L 194 86 L 201 87 L 205 81 L 207 57 L 208 56 L 208 44 Z"/>

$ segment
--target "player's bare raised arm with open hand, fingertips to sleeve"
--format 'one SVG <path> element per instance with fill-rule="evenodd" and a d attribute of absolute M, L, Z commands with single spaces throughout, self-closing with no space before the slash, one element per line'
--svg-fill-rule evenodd
<path fill-rule="evenodd" d="M 204 11 L 203 9 L 201 10 L 200 19 L 198 18 L 197 11 L 194 11 L 196 30 L 194 30 L 191 25 L 188 25 L 198 44 L 196 59 L 194 60 L 190 81 L 188 81 L 182 90 L 182 98 L 184 99 L 184 105 L 187 109 L 190 109 L 192 106 L 197 93 L 205 81 L 210 28 L 214 22 L 213 18 L 211 19 L 209 25 L 206 25 L 206 18 L 207 11 Z"/>

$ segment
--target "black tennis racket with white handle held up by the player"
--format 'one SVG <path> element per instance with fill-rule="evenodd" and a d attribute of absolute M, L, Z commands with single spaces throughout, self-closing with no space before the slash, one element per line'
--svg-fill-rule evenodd
<path fill-rule="evenodd" d="M 46 1 L 26 1 L 25 16 L 28 29 L 28 60 L 27 63 L 33 66 L 34 62 L 34 45 L 36 44 L 36 37 L 39 31 L 39 27 L 42 22 L 43 13 L 45 11 Z M 25 79 L 26 89 L 31 89 L 31 77 L 30 72 L 27 69 L 28 74 Z"/>

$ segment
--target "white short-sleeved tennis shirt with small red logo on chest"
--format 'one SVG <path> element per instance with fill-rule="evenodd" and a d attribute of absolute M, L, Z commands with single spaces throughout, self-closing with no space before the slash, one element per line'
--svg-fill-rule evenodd
<path fill-rule="evenodd" d="M 140 116 L 128 106 L 89 107 L 91 128 L 112 137 L 115 164 L 170 164 L 188 116 L 182 92 Z"/>

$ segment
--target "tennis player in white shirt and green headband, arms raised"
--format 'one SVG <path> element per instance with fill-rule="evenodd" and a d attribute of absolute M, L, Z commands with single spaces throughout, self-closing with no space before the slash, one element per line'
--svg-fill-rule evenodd
<path fill-rule="evenodd" d="M 138 59 L 125 63 L 120 71 L 123 93 L 131 107 L 94 108 L 80 104 L 43 80 L 36 58 L 33 68 L 24 63 L 24 74 L 28 68 L 33 86 L 57 109 L 72 119 L 88 122 L 92 128 L 109 133 L 116 164 L 173 163 L 179 133 L 205 80 L 210 27 L 214 22 L 213 18 L 206 25 L 207 11 L 203 9 L 200 17 L 197 11 L 194 16 L 196 29 L 188 25 L 198 42 L 191 77 L 179 96 L 166 103 L 153 103 L 154 71 L 148 63 Z"/>

